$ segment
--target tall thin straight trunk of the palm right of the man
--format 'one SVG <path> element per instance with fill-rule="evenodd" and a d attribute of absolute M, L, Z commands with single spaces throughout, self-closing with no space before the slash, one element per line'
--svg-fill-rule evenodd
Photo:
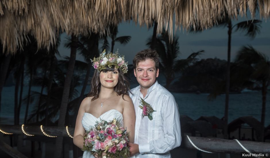
<path fill-rule="evenodd" d="M 231 62 L 231 37 L 232 22 L 228 22 L 228 52 L 227 52 L 227 70 L 226 70 L 226 89 L 225 89 L 225 111 L 224 111 L 224 139 L 228 139 L 228 111 L 229 111 L 229 91 L 230 91 L 230 62 Z"/>

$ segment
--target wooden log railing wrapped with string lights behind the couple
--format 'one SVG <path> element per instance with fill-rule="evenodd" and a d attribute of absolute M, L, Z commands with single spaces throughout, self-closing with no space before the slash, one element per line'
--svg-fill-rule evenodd
<path fill-rule="evenodd" d="M 52 127 L 52 126 L 44 127 L 43 126 L 42 127 L 43 131 L 42 131 L 40 126 L 0 125 L 0 129 L 2 132 L 7 132 L 7 133 L 31 134 L 31 135 L 37 135 L 37 136 L 46 135 L 46 136 L 72 137 L 74 134 L 74 128 L 67 128 L 67 127 Z M 244 148 L 246 148 L 250 152 L 270 152 L 270 143 L 253 142 L 253 141 L 239 141 L 239 142 L 240 144 L 242 144 Z M 236 140 L 183 136 L 180 147 L 186 148 L 186 149 L 196 149 L 197 147 L 204 151 L 209 151 L 213 153 L 241 154 L 245 151 L 240 146 L 240 144 L 238 144 Z M 5 152 L 9 152 L 10 150 L 13 149 L 13 148 L 12 149 L 9 148 L 10 150 L 5 150 L 7 149 L 8 145 L 7 144 L 3 145 L 3 142 L 0 143 L 0 146 L 1 146 L 0 149 L 2 149 Z"/>

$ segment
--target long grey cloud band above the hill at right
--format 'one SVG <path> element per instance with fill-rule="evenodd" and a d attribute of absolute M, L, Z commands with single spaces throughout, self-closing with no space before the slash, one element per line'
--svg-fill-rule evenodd
<path fill-rule="evenodd" d="M 196 45 L 196 46 L 212 46 L 212 47 L 223 47 L 227 46 L 228 39 L 221 38 L 221 39 L 207 39 L 207 40 L 200 40 L 200 41 L 191 41 L 188 42 L 189 45 Z M 242 38 L 232 38 L 232 46 L 242 46 L 242 45 L 252 45 L 252 46 L 263 46 L 270 44 L 270 37 L 260 37 L 254 38 L 253 40 L 249 37 L 242 37 Z"/>

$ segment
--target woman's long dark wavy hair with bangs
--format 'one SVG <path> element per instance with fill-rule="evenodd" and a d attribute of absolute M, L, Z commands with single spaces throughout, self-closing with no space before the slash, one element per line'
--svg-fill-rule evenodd
<path fill-rule="evenodd" d="M 123 72 L 121 69 L 118 70 L 118 83 L 114 87 L 114 91 L 117 93 L 117 95 L 122 95 L 124 99 L 124 95 L 128 95 L 128 91 L 130 90 L 129 88 L 129 82 L 127 78 L 124 76 Z M 114 66 L 112 65 L 111 68 L 107 66 L 106 69 L 101 70 L 100 72 L 103 71 L 114 71 Z M 91 91 L 88 93 L 87 97 L 93 97 L 91 100 L 95 100 L 99 98 L 99 93 L 100 93 L 100 88 L 101 88 L 101 83 L 100 83 L 100 78 L 99 74 L 100 72 L 98 70 L 95 70 L 94 75 L 91 80 Z"/>

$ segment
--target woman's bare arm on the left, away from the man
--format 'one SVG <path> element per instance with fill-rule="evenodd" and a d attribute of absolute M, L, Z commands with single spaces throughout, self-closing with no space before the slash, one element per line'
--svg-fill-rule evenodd
<path fill-rule="evenodd" d="M 84 98 L 84 100 L 82 101 L 80 105 L 77 119 L 76 119 L 74 135 L 73 135 L 73 143 L 80 149 L 83 149 L 83 142 L 84 142 L 83 136 L 84 136 L 85 130 L 82 126 L 82 117 L 84 115 L 85 105 L 87 105 L 87 103 L 89 103 L 89 97 Z"/>

